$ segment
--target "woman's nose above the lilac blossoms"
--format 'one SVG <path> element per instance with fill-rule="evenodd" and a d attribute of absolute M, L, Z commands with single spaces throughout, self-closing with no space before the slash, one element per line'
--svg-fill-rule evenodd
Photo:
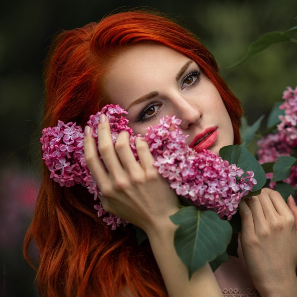
<path fill-rule="evenodd" d="M 192 98 L 178 96 L 173 104 L 174 114 L 181 119 L 180 127 L 182 129 L 189 129 L 192 126 L 198 125 L 203 112 L 198 106 L 198 102 Z"/>

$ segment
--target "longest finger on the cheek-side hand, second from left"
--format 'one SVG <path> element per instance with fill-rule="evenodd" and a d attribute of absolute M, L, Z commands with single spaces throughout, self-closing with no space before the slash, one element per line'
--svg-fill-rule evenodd
<path fill-rule="evenodd" d="M 100 115 L 100 124 L 98 125 L 98 150 L 102 160 L 110 174 L 123 174 L 123 168 L 118 155 L 113 146 L 111 138 L 110 125 L 104 114 Z"/>

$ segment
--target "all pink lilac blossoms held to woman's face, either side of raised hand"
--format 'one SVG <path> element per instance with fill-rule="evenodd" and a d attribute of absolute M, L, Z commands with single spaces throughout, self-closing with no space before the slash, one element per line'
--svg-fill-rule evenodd
<path fill-rule="evenodd" d="M 140 135 L 133 135 L 127 126 L 128 120 L 121 114 L 127 114 L 119 105 L 106 105 L 96 115 L 90 116 L 88 125 L 93 129 L 93 137 L 98 143 L 98 124 L 100 114 L 104 113 L 110 122 L 111 136 L 115 143 L 121 131 L 130 135 L 130 146 L 138 160 L 135 149 L 135 139 Z M 230 219 L 236 213 L 241 198 L 252 190 L 257 183 L 254 173 L 229 165 L 221 157 L 208 150 L 200 154 L 187 146 L 188 135 L 183 135 L 178 125 L 180 119 L 166 117 L 160 119 L 160 124 L 148 127 L 144 140 L 149 144 L 155 159 L 154 165 L 159 173 L 167 178 L 170 187 L 177 195 L 189 199 L 200 209 L 216 211 L 221 218 Z M 94 200 L 102 195 L 96 181 L 92 177 L 83 153 L 84 133 L 75 123 L 59 121 L 57 127 L 43 129 L 40 139 L 43 150 L 43 160 L 51 171 L 50 177 L 61 186 L 70 187 L 75 183 L 81 184 L 94 194 Z M 100 157 L 101 158 L 101 157 Z M 114 230 L 120 224 L 128 222 L 107 213 L 102 203 L 94 206 L 98 217 Z"/>

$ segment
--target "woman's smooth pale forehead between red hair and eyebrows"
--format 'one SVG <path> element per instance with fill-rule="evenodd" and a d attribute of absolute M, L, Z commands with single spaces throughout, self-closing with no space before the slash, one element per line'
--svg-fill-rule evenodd
<path fill-rule="evenodd" d="M 104 79 L 105 92 L 113 104 L 121 97 L 140 97 L 155 91 L 152 88 L 158 88 L 162 81 L 175 79 L 178 71 L 189 60 L 189 57 L 165 45 L 133 45 L 109 65 Z"/>

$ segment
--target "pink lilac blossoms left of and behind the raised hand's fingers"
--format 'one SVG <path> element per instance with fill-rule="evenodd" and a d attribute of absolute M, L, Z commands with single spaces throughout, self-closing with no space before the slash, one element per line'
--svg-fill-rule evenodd
<path fill-rule="evenodd" d="M 133 134 L 131 128 L 127 126 L 128 120 L 124 117 L 116 117 L 115 115 L 127 114 L 127 111 L 122 109 L 119 105 L 106 105 L 96 115 L 91 115 L 88 125 L 93 129 L 93 137 L 98 144 L 98 123 L 100 114 L 104 113 L 110 122 L 111 135 L 113 143 L 115 143 L 117 135 L 121 131 L 128 131 L 130 135 Z M 50 170 L 50 178 L 58 182 L 61 186 L 71 187 L 75 184 L 81 184 L 86 187 L 91 194 L 94 194 L 94 200 L 97 200 L 98 195 L 102 196 L 96 181 L 91 175 L 89 168 L 86 165 L 83 151 L 84 133 L 80 126 L 76 123 L 69 122 L 64 124 L 58 121 L 58 126 L 49 127 L 42 130 L 43 157 L 45 165 Z M 136 154 L 134 146 L 134 154 Z M 98 217 L 104 216 L 103 221 L 107 225 L 111 225 L 112 230 L 119 227 L 120 224 L 126 226 L 127 221 L 107 213 L 102 203 L 94 205 L 97 210 Z"/>

